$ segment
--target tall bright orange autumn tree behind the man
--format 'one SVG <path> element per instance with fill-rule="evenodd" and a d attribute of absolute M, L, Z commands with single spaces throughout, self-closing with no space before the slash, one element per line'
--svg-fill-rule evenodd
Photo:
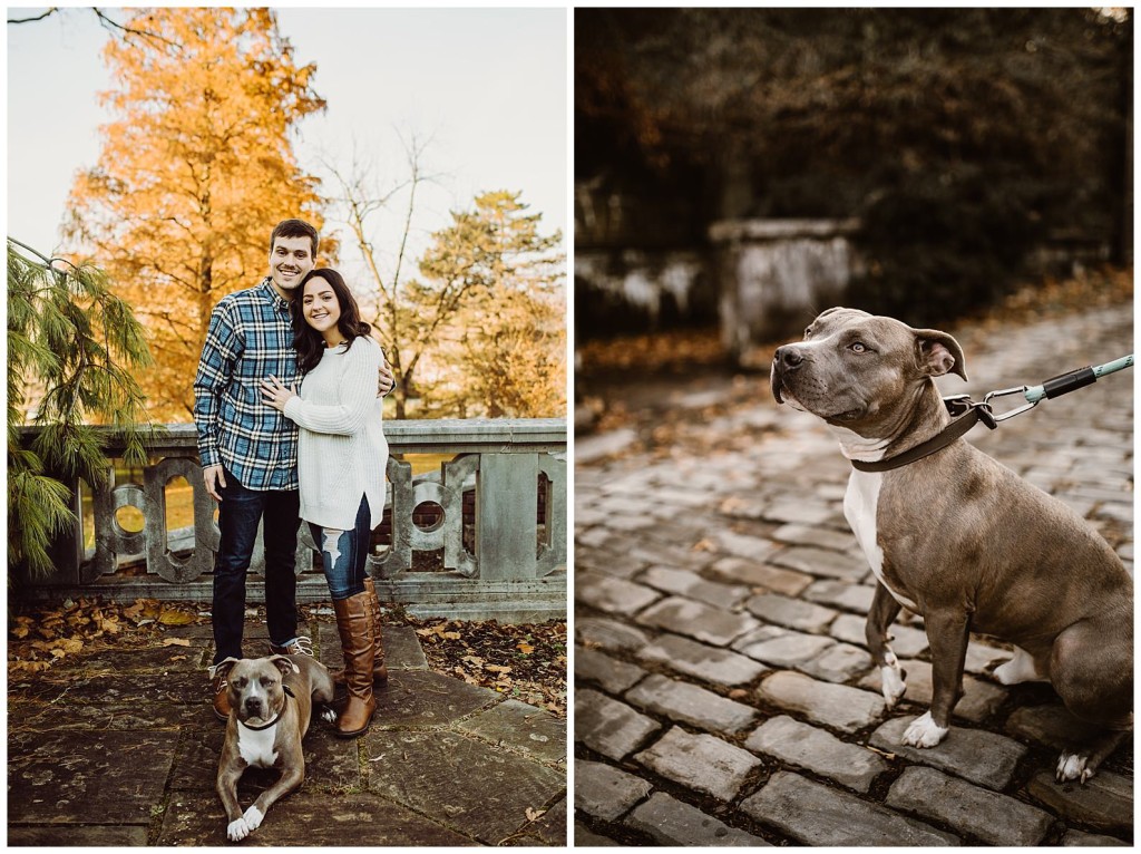
<path fill-rule="evenodd" d="M 210 311 L 256 284 L 281 219 L 319 229 L 317 179 L 292 152 L 296 123 L 323 110 L 316 66 L 298 66 L 269 9 L 132 10 L 104 50 L 115 118 L 98 163 L 76 176 L 65 234 L 145 324 L 152 418 L 191 420 Z M 322 258 L 335 258 L 323 241 Z"/>

